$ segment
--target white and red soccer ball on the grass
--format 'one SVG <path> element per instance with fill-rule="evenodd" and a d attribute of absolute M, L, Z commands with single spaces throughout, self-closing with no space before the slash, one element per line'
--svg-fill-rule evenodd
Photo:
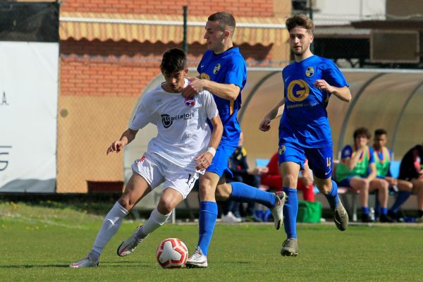
<path fill-rule="evenodd" d="M 188 259 L 188 248 L 178 238 L 167 238 L 157 247 L 157 262 L 164 269 L 180 269 Z"/>

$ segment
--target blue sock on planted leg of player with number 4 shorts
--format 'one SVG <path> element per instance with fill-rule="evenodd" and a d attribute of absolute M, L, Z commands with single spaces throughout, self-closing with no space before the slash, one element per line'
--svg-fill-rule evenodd
<path fill-rule="evenodd" d="M 288 201 L 283 205 L 283 228 L 287 238 L 297 238 L 297 214 L 298 214 L 298 195 L 297 189 L 282 188 L 288 196 Z"/>

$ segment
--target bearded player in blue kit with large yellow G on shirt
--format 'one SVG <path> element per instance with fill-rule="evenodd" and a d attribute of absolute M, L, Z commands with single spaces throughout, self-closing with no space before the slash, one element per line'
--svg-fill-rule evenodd
<path fill-rule="evenodd" d="M 283 207 L 287 239 L 283 242 L 281 255 L 296 256 L 296 187 L 298 172 L 306 158 L 314 174 L 314 183 L 329 201 L 336 227 L 344 231 L 348 226 L 348 214 L 339 200 L 338 187 L 331 180 L 332 138 L 326 106 L 332 94 L 350 102 L 351 93 L 336 65 L 310 51 L 314 39 L 312 20 L 305 15 L 295 15 L 286 20 L 286 27 L 295 61 L 283 68 L 283 99 L 264 117 L 259 129 L 269 130 L 270 121 L 280 116 L 279 108 L 285 105 L 279 125 L 278 149 L 283 191 L 288 197 Z"/>

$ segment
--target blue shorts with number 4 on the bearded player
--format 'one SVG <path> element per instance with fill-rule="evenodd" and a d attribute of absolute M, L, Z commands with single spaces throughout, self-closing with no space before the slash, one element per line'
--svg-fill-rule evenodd
<path fill-rule="evenodd" d="M 309 168 L 314 176 L 321 179 L 332 176 L 332 146 L 321 148 L 305 148 L 291 142 L 281 142 L 278 149 L 279 164 L 293 161 L 304 169 L 305 159 L 308 159 Z"/>

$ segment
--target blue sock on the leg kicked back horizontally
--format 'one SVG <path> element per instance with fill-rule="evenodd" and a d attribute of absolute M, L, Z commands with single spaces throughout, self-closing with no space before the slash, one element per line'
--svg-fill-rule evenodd
<path fill-rule="evenodd" d="M 229 197 L 230 200 L 237 202 L 257 202 L 264 204 L 266 207 L 271 208 L 276 204 L 274 193 L 262 191 L 259 188 L 252 187 L 250 185 L 233 182 L 232 194 Z"/>

